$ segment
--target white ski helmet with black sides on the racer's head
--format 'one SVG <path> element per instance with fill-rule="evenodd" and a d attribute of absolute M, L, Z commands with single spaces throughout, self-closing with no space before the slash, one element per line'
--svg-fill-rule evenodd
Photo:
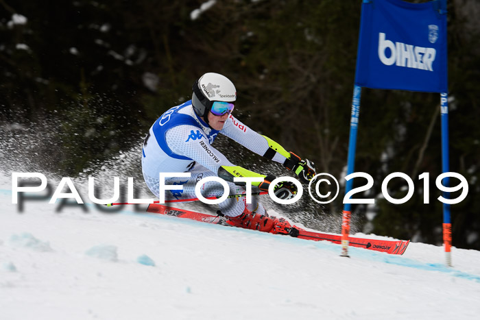
<path fill-rule="evenodd" d="M 205 73 L 192 87 L 192 106 L 198 116 L 203 116 L 208 123 L 208 111 L 214 101 L 233 102 L 237 99 L 237 89 L 224 75 Z"/>

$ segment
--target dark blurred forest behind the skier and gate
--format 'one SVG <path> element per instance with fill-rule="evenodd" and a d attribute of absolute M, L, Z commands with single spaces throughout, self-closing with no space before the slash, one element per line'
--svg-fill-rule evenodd
<path fill-rule="evenodd" d="M 38 170 L 77 175 L 138 145 L 212 71 L 235 83 L 241 121 L 339 178 L 360 10 L 361 0 L 0 0 L 0 138 L 31 152 Z M 451 171 L 470 184 L 467 199 L 452 206 L 453 245 L 475 249 L 479 14 L 479 1 L 448 0 Z M 365 232 L 442 243 L 439 102 L 438 94 L 363 89 L 356 171 L 374 177 L 370 197 L 395 171 L 412 177 L 416 190 L 403 205 L 377 198 L 376 206 L 355 206 Z M 32 146 L 32 136 L 42 138 Z M 245 167 L 261 161 L 233 157 Z M 430 204 L 423 204 L 422 172 L 431 175 Z M 392 180 L 390 194 L 403 197 L 402 187 Z M 340 212 L 339 198 L 322 212 Z"/>

